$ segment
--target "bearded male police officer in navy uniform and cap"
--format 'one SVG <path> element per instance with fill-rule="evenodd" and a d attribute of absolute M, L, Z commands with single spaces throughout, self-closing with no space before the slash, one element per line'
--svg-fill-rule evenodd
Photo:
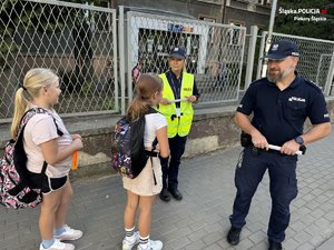
<path fill-rule="evenodd" d="M 266 58 L 267 78 L 249 86 L 235 114 L 235 122 L 250 134 L 252 141 L 235 172 L 237 193 L 227 241 L 238 244 L 252 198 L 268 169 L 272 197 L 268 249 L 281 250 L 289 222 L 289 203 L 297 196 L 296 151 L 328 136 L 331 123 L 321 89 L 295 72 L 299 60 L 297 46 L 284 40 L 274 42 Z M 307 117 L 312 128 L 303 132 Z M 269 150 L 268 144 L 281 146 L 281 152 Z"/>

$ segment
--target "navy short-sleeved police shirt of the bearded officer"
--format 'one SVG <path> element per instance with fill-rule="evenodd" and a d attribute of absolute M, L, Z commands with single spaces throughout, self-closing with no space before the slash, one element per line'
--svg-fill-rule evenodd
<path fill-rule="evenodd" d="M 321 89 L 299 76 L 284 90 L 267 78 L 253 82 L 237 111 L 253 113 L 252 124 L 276 146 L 302 134 L 306 118 L 312 124 L 330 122 Z"/>

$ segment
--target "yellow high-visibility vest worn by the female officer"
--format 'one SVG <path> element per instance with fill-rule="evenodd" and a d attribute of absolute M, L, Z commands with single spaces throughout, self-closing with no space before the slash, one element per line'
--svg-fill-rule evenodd
<path fill-rule="evenodd" d="M 166 73 L 159 74 L 164 82 L 163 98 L 168 100 L 175 100 L 174 92 L 167 80 Z M 194 74 L 184 72 L 183 81 L 180 87 L 180 98 L 193 96 L 194 89 Z M 176 134 L 185 137 L 189 133 L 194 117 L 194 109 L 191 102 L 181 101 L 180 102 L 180 117 L 176 116 L 176 104 L 175 102 L 170 104 L 159 104 L 159 112 L 163 113 L 167 120 L 167 133 L 168 138 L 174 138 Z"/>

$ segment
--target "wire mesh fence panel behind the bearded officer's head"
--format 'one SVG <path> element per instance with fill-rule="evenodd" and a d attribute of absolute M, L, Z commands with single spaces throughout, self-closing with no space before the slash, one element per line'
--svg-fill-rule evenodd
<path fill-rule="evenodd" d="M 267 32 L 263 32 L 259 58 L 265 51 L 265 40 Z M 297 72 L 301 76 L 314 81 L 322 88 L 326 96 L 334 94 L 333 91 L 333 62 L 334 62 L 334 41 L 314 38 L 296 37 L 282 33 L 273 33 L 273 42 L 285 39 L 298 44 L 301 60 Z M 331 66 L 332 63 L 332 66 Z M 262 60 L 257 68 L 257 78 L 262 74 Z"/>

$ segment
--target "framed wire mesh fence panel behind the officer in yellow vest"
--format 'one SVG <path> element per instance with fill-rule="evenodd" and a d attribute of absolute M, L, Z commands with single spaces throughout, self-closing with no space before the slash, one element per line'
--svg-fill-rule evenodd
<path fill-rule="evenodd" d="M 237 100 L 246 29 L 198 20 L 127 12 L 127 86 L 131 69 L 164 73 L 174 47 L 186 50 L 186 71 L 195 74 L 199 106 Z M 131 91 L 129 97 L 131 98 Z"/>

